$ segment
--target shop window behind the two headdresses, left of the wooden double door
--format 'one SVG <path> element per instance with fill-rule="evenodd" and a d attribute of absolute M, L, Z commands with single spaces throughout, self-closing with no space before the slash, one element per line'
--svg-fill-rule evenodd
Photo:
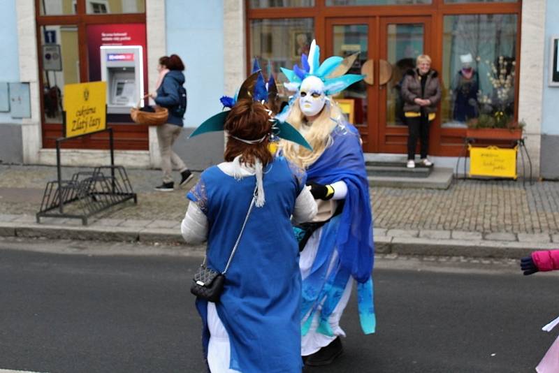
<path fill-rule="evenodd" d="M 301 54 L 309 53 L 313 38 L 312 18 L 250 21 L 250 56 L 259 59 L 263 71 L 274 74 L 280 96 L 290 93 L 281 84 L 286 78 L 279 68 L 300 64 Z"/>

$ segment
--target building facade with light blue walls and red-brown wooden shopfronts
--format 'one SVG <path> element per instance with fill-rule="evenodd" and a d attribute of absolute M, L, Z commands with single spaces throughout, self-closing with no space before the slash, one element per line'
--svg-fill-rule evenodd
<path fill-rule="evenodd" d="M 559 178 L 559 87 L 549 83 L 558 12 L 553 0 L 4 1 L 0 17 L 10 30 L 0 39 L 9 58 L 0 61 L 0 82 L 29 83 L 31 117 L 0 112 L 0 159 L 54 164 L 64 85 L 99 80 L 100 45 L 133 44 L 145 50 L 145 92 L 154 89 L 159 57 L 184 60 L 189 105 L 175 149 L 191 168 L 205 168 L 222 159 L 223 135 L 188 140 L 188 133 L 220 109 L 220 96 L 234 94 L 253 57 L 283 82 L 279 68 L 298 63 L 315 38 L 321 59 L 360 52 L 351 71 L 368 79 L 336 99 L 361 131 L 368 159 L 405 154 L 399 86 L 415 58 L 429 54 L 443 93 L 430 133 L 437 165 L 454 166 L 467 126 L 523 122 L 534 175 Z M 53 45 L 61 50 L 59 70 L 45 59 Z M 153 127 L 126 115 L 110 115 L 109 122 L 117 163 L 158 166 Z M 99 163 L 108 157 L 106 142 L 75 140 L 63 163 Z"/>

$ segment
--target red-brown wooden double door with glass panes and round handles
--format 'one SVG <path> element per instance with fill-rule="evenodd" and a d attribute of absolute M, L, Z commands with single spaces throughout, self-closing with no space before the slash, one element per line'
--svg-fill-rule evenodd
<path fill-rule="evenodd" d="M 377 27 L 378 26 L 378 27 Z M 428 54 L 430 17 L 347 17 L 326 20 L 326 54 L 360 52 L 350 73 L 365 79 L 334 98 L 363 138 L 363 150 L 406 153 L 407 126 L 400 96 L 402 78 Z"/>

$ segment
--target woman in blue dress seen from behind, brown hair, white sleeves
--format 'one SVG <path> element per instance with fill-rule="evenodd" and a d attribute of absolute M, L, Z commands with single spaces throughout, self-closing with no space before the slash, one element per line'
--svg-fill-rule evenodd
<path fill-rule="evenodd" d="M 224 124 L 225 161 L 205 170 L 187 195 L 182 235 L 207 240 L 207 265 L 222 271 L 258 190 L 219 302 L 196 300 L 212 373 L 302 369 L 299 250 L 290 218 L 312 219 L 317 206 L 303 170 L 268 151 L 270 118 L 259 101 L 233 105 Z"/>

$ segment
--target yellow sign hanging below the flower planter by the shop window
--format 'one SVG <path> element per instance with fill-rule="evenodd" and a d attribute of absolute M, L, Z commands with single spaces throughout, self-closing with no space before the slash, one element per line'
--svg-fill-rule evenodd
<path fill-rule="evenodd" d="M 470 177 L 493 176 L 512 177 L 516 179 L 516 152 L 513 149 L 500 147 L 472 147 L 470 149 Z"/>

